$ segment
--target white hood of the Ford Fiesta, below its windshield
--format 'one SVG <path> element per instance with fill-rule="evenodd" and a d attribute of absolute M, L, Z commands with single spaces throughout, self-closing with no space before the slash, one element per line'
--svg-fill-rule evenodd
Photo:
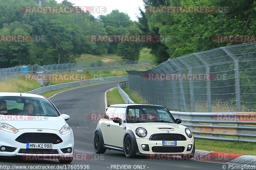
<path fill-rule="evenodd" d="M 62 116 L 23 116 L 0 115 L 0 122 L 7 123 L 16 129 L 53 129 L 60 130 L 66 121 Z"/>

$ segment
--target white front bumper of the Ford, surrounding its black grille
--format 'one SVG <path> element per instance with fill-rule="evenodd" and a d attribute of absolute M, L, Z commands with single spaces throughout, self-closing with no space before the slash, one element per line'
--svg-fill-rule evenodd
<path fill-rule="evenodd" d="M 24 133 L 41 133 L 38 132 L 37 129 L 19 129 L 17 133 L 5 132 L 4 130 L 0 130 L 0 147 L 7 146 L 7 148 L 12 147 L 12 152 L 2 152 L 0 151 L 0 156 L 22 156 L 29 157 L 38 155 L 40 158 L 51 159 L 51 158 L 60 158 L 60 157 L 73 157 L 74 155 L 74 135 L 72 129 L 67 134 L 61 135 L 58 130 L 52 129 L 43 129 L 42 133 L 51 133 L 58 135 L 62 142 L 59 144 L 53 144 L 52 149 L 27 149 L 26 143 L 17 142 L 16 139 L 20 135 Z M 27 141 L 29 142 L 29 141 Z M 40 143 L 40 142 L 37 142 Z M 44 142 L 41 142 L 44 143 Z M 16 148 L 16 149 L 15 149 Z M 71 153 L 63 153 L 62 150 L 64 148 L 72 148 Z M 14 150 L 14 151 L 13 151 Z M 41 151 L 42 152 L 41 152 Z M 10 150 L 9 150 L 10 151 Z M 28 158 L 29 159 L 29 158 Z"/>

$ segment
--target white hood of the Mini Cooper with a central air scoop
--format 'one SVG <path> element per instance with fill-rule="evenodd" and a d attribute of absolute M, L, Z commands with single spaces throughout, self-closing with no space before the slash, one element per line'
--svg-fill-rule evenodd
<path fill-rule="evenodd" d="M 147 130 L 148 135 L 146 138 L 150 137 L 156 133 L 179 133 L 183 134 L 185 137 L 185 126 L 176 123 L 165 123 L 165 122 L 150 122 L 150 123 L 129 123 L 129 129 L 134 131 L 141 127 Z"/>

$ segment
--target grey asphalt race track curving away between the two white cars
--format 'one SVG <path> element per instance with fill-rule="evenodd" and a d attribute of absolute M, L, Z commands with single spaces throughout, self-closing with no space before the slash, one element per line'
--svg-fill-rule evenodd
<path fill-rule="evenodd" d="M 98 121 L 88 120 L 87 115 L 92 113 L 104 113 L 105 99 L 104 93 L 116 87 L 119 82 L 111 82 L 105 84 L 91 85 L 77 89 L 68 90 L 55 95 L 50 100 L 59 109 L 61 114 L 70 115 L 67 121 L 69 126 L 74 131 L 75 136 L 75 154 L 76 159 L 71 164 L 61 169 L 84 169 L 82 165 L 89 165 L 89 169 L 105 170 L 125 169 L 122 165 L 131 165 L 131 169 L 135 166 L 140 169 L 195 169 L 195 170 L 209 170 L 209 169 L 223 169 L 224 164 L 211 163 L 195 160 L 149 160 L 145 157 L 136 159 L 126 158 L 124 153 L 107 150 L 105 154 L 95 154 L 93 150 L 94 130 Z M 115 139 L 113 139 L 115 140 Z M 86 159 L 84 158 L 86 155 Z M 81 160 L 82 157 L 82 160 Z M 0 165 L 2 166 L 55 166 L 65 165 L 60 164 L 57 160 L 52 161 L 24 161 L 21 158 L 0 158 Z M 72 165 L 72 166 L 71 166 Z M 76 166 L 76 165 L 79 165 Z M 112 168 L 111 168 L 112 165 Z M 135 166 L 134 166 L 135 165 Z M 134 166 L 134 167 L 133 167 Z M 141 166 L 141 167 L 140 167 Z M 145 167 L 144 167 L 145 166 Z M 14 169 L 18 169 L 17 167 Z M 136 167 L 135 167 L 136 168 Z M 0 168 L 6 169 L 6 168 Z M 23 169 L 23 168 L 19 168 Z M 40 169 L 40 168 L 39 168 Z M 42 168 L 41 168 L 42 169 Z M 46 168 L 47 169 L 47 168 Z M 138 168 L 136 168 L 138 169 Z M 228 169 L 228 168 L 227 168 Z"/>

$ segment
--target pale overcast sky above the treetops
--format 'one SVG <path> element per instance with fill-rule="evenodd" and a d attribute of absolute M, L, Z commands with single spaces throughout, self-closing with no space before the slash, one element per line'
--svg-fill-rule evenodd
<path fill-rule="evenodd" d="M 109 14 L 112 10 L 118 9 L 120 12 L 127 13 L 130 18 L 135 21 L 137 20 L 136 14 L 139 15 L 139 7 L 144 10 L 142 0 L 68 0 L 69 2 L 75 4 L 75 6 L 105 6 L 107 7 L 107 13 Z M 62 0 L 57 0 L 61 3 Z M 94 17 L 106 14 L 92 14 Z"/>

